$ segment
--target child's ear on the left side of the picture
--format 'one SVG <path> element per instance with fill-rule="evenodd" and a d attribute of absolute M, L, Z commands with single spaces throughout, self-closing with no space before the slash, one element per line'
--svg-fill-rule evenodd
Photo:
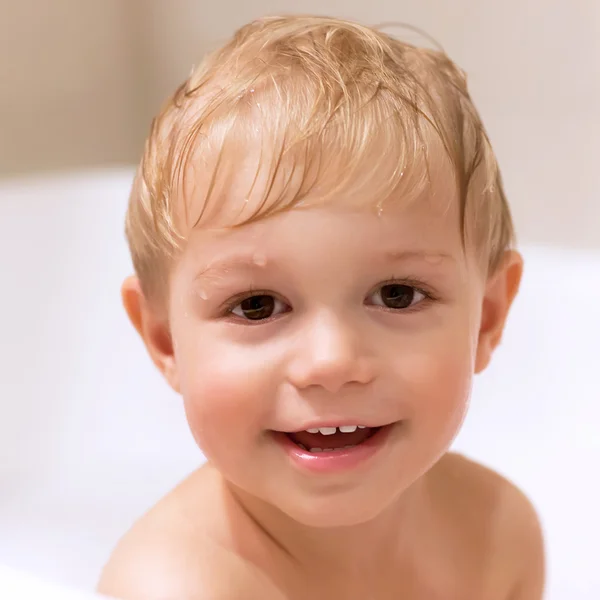
<path fill-rule="evenodd" d="M 128 277 L 123 282 L 121 298 L 129 320 L 144 341 L 152 362 L 169 385 L 179 393 L 173 340 L 165 312 L 158 310 L 148 301 L 139 279 L 135 276 Z"/>

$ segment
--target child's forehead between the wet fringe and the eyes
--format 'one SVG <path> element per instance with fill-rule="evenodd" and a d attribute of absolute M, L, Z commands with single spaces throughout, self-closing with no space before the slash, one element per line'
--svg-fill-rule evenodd
<path fill-rule="evenodd" d="M 295 207 L 241 227 L 194 230 L 180 265 L 222 275 L 252 263 L 320 270 L 335 262 L 347 269 L 394 256 L 464 262 L 458 210 L 434 198 L 381 213 L 346 203 Z"/>

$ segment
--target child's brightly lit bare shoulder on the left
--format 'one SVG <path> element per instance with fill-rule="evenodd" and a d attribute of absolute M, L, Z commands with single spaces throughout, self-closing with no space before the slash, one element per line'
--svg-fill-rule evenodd
<path fill-rule="evenodd" d="M 210 514 L 190 518 L 200 479 L 193 475 L 125 534 L 103 569 L 99 593 L 122 600 L 282 598 L 263 573 L 210 534 Z"/>

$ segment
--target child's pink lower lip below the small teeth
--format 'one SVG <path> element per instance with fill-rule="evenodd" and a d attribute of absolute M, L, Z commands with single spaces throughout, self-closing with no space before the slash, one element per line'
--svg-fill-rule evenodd
<path fill-rule="evenodd" d="M 381 427 L 362 444 L 336 450 L 335 452 L 309 452 L 295 444 L 285 433 L 275 432 L 275 439 L 286 451 L 292 462 L 313 473 L 338 473 L 349 471 L 369 460 L 384 446 L 390 431 L 399 423 Z"/>

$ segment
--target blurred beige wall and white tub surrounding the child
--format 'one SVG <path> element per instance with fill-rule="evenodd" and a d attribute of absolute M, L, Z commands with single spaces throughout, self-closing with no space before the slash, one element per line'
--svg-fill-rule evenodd
<path fill-rule="evenodd" d="M 0 0 L 0 565 L 90 589 L 201 461 L 120 306 L 133 165 L 207 50 L 294 12 L 409 23 L 466 70 L 526 274 L 455 447 L 538 507 L 547 598 L 597 600 L 598 0 Z"/>

